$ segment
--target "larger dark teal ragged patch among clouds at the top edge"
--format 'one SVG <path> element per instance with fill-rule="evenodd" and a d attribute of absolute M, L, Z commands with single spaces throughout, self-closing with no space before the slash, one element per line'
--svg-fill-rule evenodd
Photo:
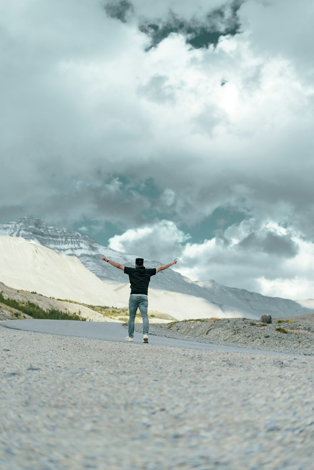
<path fill-rule="evenodd" d="M 240 20 L 238 10 L 243 1 L 233 1 L 231 5 L 223 5 L 220 8 L 207 13 L 204 21 L 191 18 L 186 20 L 170 11 L 166 20 L 143 21 L 139 28 L 150 38 L 147 50 L 157 47 L 170 34 L 182 34 L 186 43 L 195 49 L 216 47 L 223 36 L 235 36 L 240 32 Z"/>

